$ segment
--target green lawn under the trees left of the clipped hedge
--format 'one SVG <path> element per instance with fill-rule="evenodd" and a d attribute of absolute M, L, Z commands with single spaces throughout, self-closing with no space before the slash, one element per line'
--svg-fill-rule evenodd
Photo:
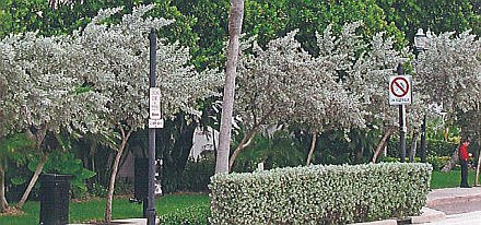
<path fill-rule="evenodd" d="M 209 204 L 207 194 L 173 194 L 156 199 L 155 206 L 157 215 L 162 215 L 177 209 L 187 208 L 193 204 Z M 0 216 L 0 224 L 26 225 L 38 224 L 39 202 L 27 202 L 23 208 L 25 215 Z M 70 202 L 70 223 L 103 220 L 105 212 L 105 200 L 92 200 L 87 202 Z M 133 218 L 142 217 L 142 204 L 129 203 L 128 199 L 117 199 L 113 203 L 113 217 Z"/>

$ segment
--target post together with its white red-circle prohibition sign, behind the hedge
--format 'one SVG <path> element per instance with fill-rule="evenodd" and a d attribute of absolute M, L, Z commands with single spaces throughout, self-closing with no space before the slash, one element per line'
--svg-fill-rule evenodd
<path fill-rule="evenodd" d="M 389 105 L 399 105 L 399 138 L 401 162 L 406 161 L 406 105 L 410 105 L 412 99 L 412 82 L 410 75 L 403 75 L 402 64 L 398 64 L 398 75 L 389 78 Z"/>

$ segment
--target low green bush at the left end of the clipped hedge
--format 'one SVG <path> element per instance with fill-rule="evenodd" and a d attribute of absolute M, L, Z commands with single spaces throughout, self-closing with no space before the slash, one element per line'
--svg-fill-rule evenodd
<path fill-rule="evenodd" d="M 209 224 L 209 204 L 198 204 L 160 216 L 162 225 L 204 225 Z"/>

